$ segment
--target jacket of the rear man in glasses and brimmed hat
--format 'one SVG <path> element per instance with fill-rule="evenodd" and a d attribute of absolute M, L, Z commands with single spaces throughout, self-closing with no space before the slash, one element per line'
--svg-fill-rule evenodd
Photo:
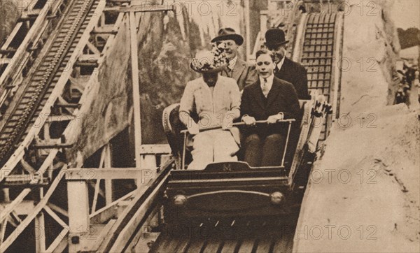
<path fill-rule="evenodd" d="M 247 64 L 244 60 L 239 58 L 237 59 L 232 71 L 226 67 L 223 69 L 221 75 L 235 79 L 239 86 L 239 90 L 244 89 L 244 87 L 248 85 L 252 85 L 256 80 L 258 80 L 258 74 L 255 71 L 255 67 Z"/>

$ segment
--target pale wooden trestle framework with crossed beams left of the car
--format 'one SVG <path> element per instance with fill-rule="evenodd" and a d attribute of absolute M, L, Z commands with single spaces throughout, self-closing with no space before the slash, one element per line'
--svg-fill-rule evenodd
<path fill-rule="evenodd" d="M 87 6 L 88 2 L 91 2 L 92 5 Z M 137 194 L 137 190 L 134 190 L 121 198 L 114 199 L 112 179 L 137 179 L 139 190 L 141 190 L 141 185 L 146 185 L 148 182 L 141 178 L 154 179 L 151 175 L 155 175 L 157 171 L 155 156 L 169 154 L 169 146 L 141 145 L 140 139 L 140 142 L 136 143 L 137 167 L 144 166 L 145 163 L 151 165 L 153 168 L 149 169 L 148 173 L 142 175 L 141 171 L 134 168 L 120 168 L 118 173 L 116 170 L 111 172 L 105 169 L 105 174 L 100 174 L 99 177 L 83 175 L 83 177 L 87 176 L 91 179 L 87 185 L 80 185 L 79 181 L 71 181 L 68 178 L 69 209 L 66 210 L 66 208 L 50 202 L 50 198 L 57 197 L 59 185 L 62 185 L 61 182 L 64 180 L 68 166 L 74 169 L 83 165 L 83 161 L 65 164 L 61 159 L 64 150 L 73 145 L 72 143 L 77 140 L 80 133 L 80 124 L 69 124 L 69 122 L 77 120 L 90 107 L 92 102 L 90 93 L 96 88 L 95 85 L 99 85 L 96 81 L 99 74 L 97 69 L 106 62 L 109 52 L 116 44 L 118 33 L 128 31 L 128 29 L 123 31 L 120 27 L 130 27 L 133 55 L 137 55 L 136 35 L 140 15 L 136 15 L 136 13 L 174 10 L 170 5 L 147 3 L 145 6 L 142 2 L 33 0 L 22 12 L 18 24 L 3 44 L 0 50 L 0 117 L 2 123 L 0 127 L 4 132 L 3 135 L 7 136 L 8 130 L 4 130 L 7 127 L 5 122 L 13 122 L 13 119 L 10 120 L 12 118 L 9 113 L 10 108 L 20 104 L 16 103 L 14 99 L 18 96 L 25 98 L 25 94 L 22 95 L 20 91 L 26 83 L 25 80 L 29 78 L 34 80 L 34 75 L 37 75 L 37 72 L 32 68 L 39 66 L 40 62 L 42 64 L 40 58 L 45 56 L 45 53 L 55 52 L 53 50 L 56 48 L 53 43 L 55 41 L 60 43 L 59 40 L 62 39 L 59 34 L 55 35 L 56 31 L 59 32 L 60 26 L 63 31 L 70 29 L 63 22 L 71 21 L 73 17 L 81 18 L 74 20 L 73 25 L 79 27 L 74 31 L 73 41 L 68 41 L 71 44 L 69 44 L 66 55 L 63 55 L 63 58 L 58 61 L 57 70 L 52 70 L 52 75 L 55 75 L 52 77 L 53 85 L 50 85 L 41 100 L 40 109 L 36 110 L 34 119 L 29 122 L 28 128 L 24 130 L 22 138 L 18 140 L 18 145 L 14 146 L 10 157 L 6 157 L 6 159 L 2 157 L 0 182 L 3 201 L 0 204 L 0 252 L 6 252 L 10 247 L 13 248 L 13 243 L 19 237 L 31 233 L 30 238 L 34 238 L 36 242 L 36 252 L 62 252 L 66 248 L 70 251 L 81 250 L 83 247 L 80 245 L 83 244 L 80 242 L 83 241 L 90 243 L 90 249 L 99 247 L 98 244 L 92 245 L 92 241 L 81 240 L 81 236 L 92 238 L 92 236 L 98 236 L 100 231 L 104 233 L 103 231 L 109 229 L 115 221 L 111 219 L 108 222 L 109 219 L 118 217 L 118 213 L 127 206 L 127 201 Z M 85 8 L 84 17 L 79 14 L 81 8 Z M 76 13 L 72 14 L 72 11 Z M 56 37 L 52 40 L 54 36 Z M 45 52 L 45 48 L 51 47 L 51 45 L 52 48 Z M 47 60 L 45 59 L 45 61 Z M 132 64 L 137 65 L 137 57 L 132 57 Z M 137 70 L 138 68 L 132 69 Z M 134 86 L 137 85 L 137 92 L 134 92 L 133 98 L 134 103 L 137 102 L 137 104 L 134 106 L 137 106 L 139 110 L 138 73 L 132 72 L 133 80 L 137 80 L 137 83 L 134 82 Z M 48 74 L 45 73 L 43 76 Z M 69 89 L 64 89 L 64 87 Z M 64 92 L 67 92 L 66 96 L 77 100 L 78 103 L 66 100 Z M 21 101 L 21 103 L 24 102 Z M 55 112 L 53 116 L 52 111 Z M 134 114 L 139 114 L 139 111 Z M 48 115 L 48 117 L 34 124 L 38 115 Z M 136 127 L 139 128 L 139 115 L 134 115 L 134 119 Z M 67 127 L 63 129 L 59 138 L 52 138 L 50 129 L 51 125 L 56 122 L 63 122 Z M 141 131 L 137 129 L 136 132 L 140 133 Z M 2 146 L 3 148 L 5 146 Z M 42 161 L 41 166 L 34 168 L 25 160 L 30 157 L 30 152 L 36 152 L 38 159 Z M 111 145 L 106 144 L 102 148 L 98 168 L 111 167 Z M 95 175 L 98 168 L 94 170 Z M 104 180 L 104 190 L 100 187 L 101 180 Z M 82 180 L 81 182 L 87 181 Z M 22 191 L 18 196 L 13 196 L 10 194 L 10 187 L 21 188 Z M 92 206 L 82 207 L 80 203 L 87 200 L 87 187 L 92 187 L 94 190 Z M 28 196 L 32 197 L 28 198 Z M 105 199 L 105 206 L 99 209 L 97 209 L 98 196 Z M 74 200 L 77 201 L 74 202 Z M 69 219 L 72 215 L 78 218 Z M 51 231 L 50 228 L 45 227 L 45 219 L 52 219 L 53 223 L 61 226 L 61 229 L 59 231 L 52 229 Z M 79 226 L 80 224 L 85 225 L 86 222 L 90 226 Z M 102 225 L 104 222 L 108 222 L 106 226 Z"/>

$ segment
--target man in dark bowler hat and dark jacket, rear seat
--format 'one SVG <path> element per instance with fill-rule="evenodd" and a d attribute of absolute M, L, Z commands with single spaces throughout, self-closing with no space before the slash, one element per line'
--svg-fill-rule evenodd
<path fill-rule="evenodd" d="M 276 57 L 274 75 L 290 82 L 295 87 L 299 99 L 311 99 L 308 94 L 307 71 L 304 66 L 286 57 L 287 43 L 284 31 L 279 28 L 268 29 L 265 33 L 265 46 L 274 52 Z"/>

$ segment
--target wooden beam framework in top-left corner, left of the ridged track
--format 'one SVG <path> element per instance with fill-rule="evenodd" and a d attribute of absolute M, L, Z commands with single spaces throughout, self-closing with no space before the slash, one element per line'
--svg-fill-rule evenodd
<path fill-rule="evenodd" d="M 1 46 L 0 61 L 8 59 L 9 64 L 0 66 L 0 113 L 7 107 L 4 103 L 10 101 L 19 87 L 20 78 L 27 77 L 27 71 L 34 64 L 45 41 L 55 31 L 59 16 L 68 2 L 32 0 Z"/>

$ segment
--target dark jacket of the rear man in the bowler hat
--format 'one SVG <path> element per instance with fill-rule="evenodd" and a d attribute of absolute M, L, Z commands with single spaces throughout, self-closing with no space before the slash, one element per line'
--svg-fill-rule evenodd
<path fill-rule="evenodd" d="M 299 99 L 311 99 L 308 94 L 307 71 L 304 66 L 286 57 L 280 71 L 277 71 L 274 75 L 276 75 L 276 78 L 290 82 L 295 87 Z"/>

